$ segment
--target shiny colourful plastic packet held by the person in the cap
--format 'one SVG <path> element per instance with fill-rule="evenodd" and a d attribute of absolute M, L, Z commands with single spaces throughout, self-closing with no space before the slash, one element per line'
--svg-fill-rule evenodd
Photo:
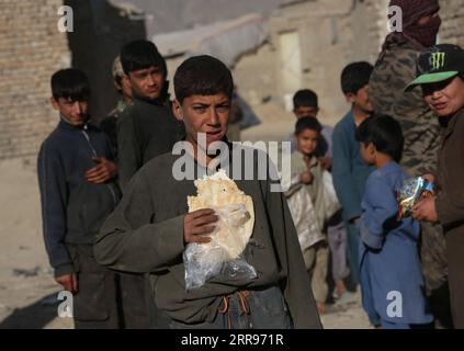
<path fill-rule="evenodd" d="M 423 197 L 430 197 L 434 194 L 433 183 L 425 180 L 423 178 L 407 179 L 403 188 L 397 193 L 399 204 L 399 218 L 406 218 L 411 215 L 411 210 Z"/>

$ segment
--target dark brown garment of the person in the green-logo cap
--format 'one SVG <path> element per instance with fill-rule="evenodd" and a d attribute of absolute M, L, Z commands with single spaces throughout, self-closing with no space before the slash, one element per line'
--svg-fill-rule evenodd
<path fill-rule="evenodd" d="M 446 238 L 454 326 L 464 328 L 464 109 L 443 131 L 438 161 L 437 213 Z"/>

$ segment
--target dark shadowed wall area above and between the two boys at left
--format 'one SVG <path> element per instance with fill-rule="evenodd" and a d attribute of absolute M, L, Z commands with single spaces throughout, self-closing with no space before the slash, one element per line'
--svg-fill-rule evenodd
<path fill-rule="evenodd" d="M 107 0 L 65 0 L 64 4 L 73 12 L 73 32 L 68 33 L 71 66 L 88 75 L 90 113 L 100 122 L 118 100 L 111 75 L 113 60 L 127 42 L 146 38 L 145 19 Z"/>

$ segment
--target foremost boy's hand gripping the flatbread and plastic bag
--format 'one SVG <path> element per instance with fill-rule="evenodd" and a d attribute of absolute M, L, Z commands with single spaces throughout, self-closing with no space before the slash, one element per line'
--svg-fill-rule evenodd
<path fill-rule="evenodd" d="M 215 229 L 213 224 L 218 219 L 219 217 L 214 214 L 213 210 L 210 208 L 188 213 L 183 218 L 184 242 L 211 242 L 211 238 L 204 237 L 202 235 L 213 233 Z"/>

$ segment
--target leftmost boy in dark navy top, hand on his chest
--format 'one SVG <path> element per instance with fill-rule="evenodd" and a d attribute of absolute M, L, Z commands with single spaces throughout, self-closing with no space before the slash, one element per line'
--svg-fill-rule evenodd
<path fill-rule="evenodd" d="M 116 165 L 103 133 L 88 123 L 86 75 L 52 77 L 59 123 L 38 154 L 45 247 L 55 280 L 73 294 L 76 328 L 117 328 L 116 275 L 97 263 L 93 240 L 120 200 Z"/>

